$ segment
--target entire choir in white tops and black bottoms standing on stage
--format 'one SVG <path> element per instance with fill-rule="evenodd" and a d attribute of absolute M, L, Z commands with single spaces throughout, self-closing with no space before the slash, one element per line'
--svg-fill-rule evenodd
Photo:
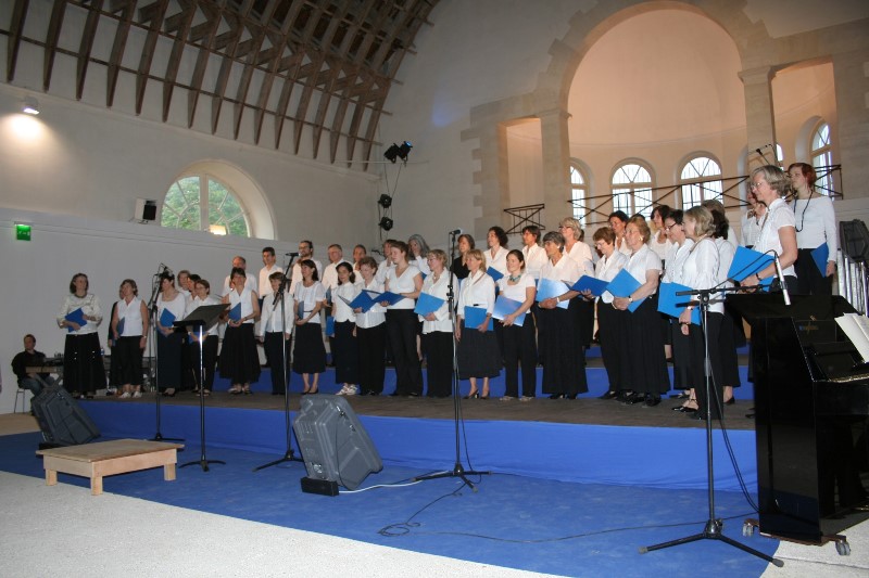
<path fill-rule="evenodd" d="M 739 244 L 760 253 L 774 251 L 791 293 L 831 293 L 835 216 L 830 198 L 816 192 L 814 182 L 813 167 L 802 163 L 786 172 L 765 166 L 751 175 L 751 209 L 742 219 Z M 210 394 L 215 369 L 231 383 L 230 394 L 250 394 L 260 376 L 257 341 L 272 370 L 273 394 L 285 391 L 285 368 L 302 375 L 304 394 L 316 394 L 327 363 L 326 333 L 336 383 L 342 385 L 339 395 L 382 394 L 385 368 L 391 362 L 391 395 L 421 396 L 425 360 L 428 397 L 452 395 L 455 369 L 459 380 L 469 381 L 465 398 L 487 399 L 490 378 L 503 369 L 506 390 L 501 399 L 529 401 L 536 396 L 540 363 L 542 391 L 551 399 L 575 399 L 588 391 L 584 351 L 597 341 L 609 380 L 603 399 L 656 406 L 675 388 L 684 390 L 684 403 L 673 409 L 698 418 L 697 408 L 705 402 L 704 331 L 693 305 L 678 317 L 662 313 L 659 288 L 662 283 L 694 290 L 733 285 L 728 271 L 738 243 L 729 232 L 723 206 L 706 201 L 687 210 L 657 205 L 651 221 L 613 213 L 608 227 L 593 233 L 596 256 L 572 218 L 563 219 L 542 239 L 538 227 L 525 227 L 520 249 L 507 248 L 500 227 L 489 229 L 484 249 L 476 247 L 473 236 L 461 234 L 452 262 L 446 253 L 430 249 L 415 234 L 406 243 L 386 241 L 386 258 L 379 264 L 362 245 L 354 247 L 352 262 L 343 259 L 339 245 L 331 245 L 329 264 L 323 267 L 313 256 L 313 243 L 303 241 L 287 280 L 272 247 L 263 249 L 259 280 L 248 274 L 244 259 L 236 257 L 222 298 L 211 295 L 211 284 L 198 275 L 179 271 L 176 279 L 165 271 L 153 316 L 138 296 L 136 282 L 127 279 L 109 322 L 109 381 L 122 398 L 141 396 L 142 354 L 153 322 L 158 384 L 165 396 L 184 389 Z M 818 266 L 818 247 L 824 244 L 828 260 Z M 617 279 L 628 279 L 622 272 L 630 275 L 622 292 L 596 293 L 575 284 L 584 275 L 614 287 Z M 770 278 L 776 278 L 771 291 L 780 291 L 774 264 L 741 284 L 769 284 Z M 227 313 L 202 338 L 174 330 L 173 321 L 222 303 Z M 102 320 L 99 299 L 88 293 L 87 275 L 76 274 L 58 313 L 59 326 L 67 331 L 64 385 L 76 396 L 92 396 L 105 385 L 97 334 Z M 710 301 L 705 335 L 711 345 L 716 414 L 732 403 L 732 387 L 740 385 L 736 347 L 744 341 L 741 319 L 731 314 L 723 294 Z"/>

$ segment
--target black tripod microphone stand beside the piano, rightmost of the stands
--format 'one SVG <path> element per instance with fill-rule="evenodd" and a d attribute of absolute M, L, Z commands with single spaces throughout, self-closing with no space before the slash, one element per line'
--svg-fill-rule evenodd
<path fill-rule="evenodd" d="M 700 308 L 701 308 L 701 327 L 703 331 L 703 347 L 704 347 L 704 368 L 705 368 L 705 377 L 706 383 L 704 385 L 706 389 L 706 403 L 703 408 L 703 411 L 706 413 L 706 476 L 707 476 L 707 491 L 708 491 L 708 505 L 709 505 L 709 518 L 706 521 L 706 526 L 704 526 L 703 531 L 698 534 L 694 534 L 691 536 L 687 536 L 684 538 L 678 538 L 676 540 L 670 540 L 668 542 L 662 542 L 655 545 L 646 545 L 640 548 L 640 553 L 645 554 L 646 552 L 652 552 L 653 550 L 663 550 L 665 548 L 670 548 L 673 545 L 681 545 L 691 542 L 696 542 L 698 540 L 720 540 L 727 544 L 730 544 L 734 548 L 739 548 L 743 552 L 747 552 L 754 556 L 759 558 L 766 560 L 767 562 L 771 562 L 776 566 L 784 566 L 784 562 L 774 558 L 772 556 L 768 556 L 763 552 L 758 552 L 753 548 L 748 548 L 747 545 L 733 540 L 722 534 L 723 529 L 723 522 L 720 518 L 715 517 L 715 475 L 713 472 L 713 414 L 711 414 L 711 403 L 713 403 L 713 375 L 711 375 L 711 362 L 709 361 L 709 339 L 708 339 L 708 324 L 707 324 L 707 314 L 709 309 L 709 296 L 716 293 L 726 293 L 728 291 L 732 291 L 730 287 L 713 287 L 710 290 L 695 290 L 695 291 L 680 291 L 677 292 L 676 295 L 696 295 L 697 299 L 700 300 Z M 718 397 L 715 397 L 716 402 Z M 720 412 L 720 407 L 718 408 Z"/>

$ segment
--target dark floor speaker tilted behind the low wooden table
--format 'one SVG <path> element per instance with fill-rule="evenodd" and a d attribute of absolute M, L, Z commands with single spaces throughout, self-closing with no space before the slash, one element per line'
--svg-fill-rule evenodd
<path fill-rule="evenodd" d="M 100 437 L 90 416 L 61 386 L 46 387 L 30 406 L 42 431 L 45 446 L 77 446 Z"/>

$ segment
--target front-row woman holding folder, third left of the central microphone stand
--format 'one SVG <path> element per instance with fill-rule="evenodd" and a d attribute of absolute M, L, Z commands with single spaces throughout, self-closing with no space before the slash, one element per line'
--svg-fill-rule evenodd
<path fill-rule="evenodd" d="M 382 293 L 383 285 L 376 279 L 377 261 L 373 257 L 360 259 L 361 290 Z M 370 309 L 355 309 L 355 336 L 360 360 L 360 393 L 364 396 L 379 396 L 383 393 L 386 375 L 387 317 L 386 308 L 374 304 Z"/>

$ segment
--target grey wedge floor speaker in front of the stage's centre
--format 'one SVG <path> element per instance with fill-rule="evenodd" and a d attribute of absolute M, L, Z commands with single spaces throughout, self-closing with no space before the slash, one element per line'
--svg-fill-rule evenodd
<path fill-rule="evenodd" d="M 303 398 L 292 428 L 307 470 L 304 491 L 335 496 L 338 485 L 354 490 L 368 474 L 383 468 L 371 438 L 342 397 Z"/>

